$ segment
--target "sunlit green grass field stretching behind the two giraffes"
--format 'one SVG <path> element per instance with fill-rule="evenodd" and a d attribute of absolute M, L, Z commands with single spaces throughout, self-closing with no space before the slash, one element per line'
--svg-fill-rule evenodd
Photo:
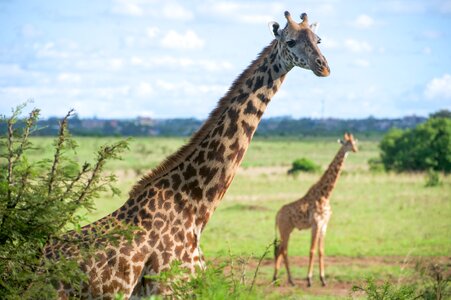
<path fill-rule="evenodd" d="M 337 137 L 338 138 L 338 137 Z M 93 157 L 96 147 L 114 138 L 77 138 L 76 159 Z M 98 219 L 125 201 L 134 182 L 147 170 L 175 151 L 187 139 L 135 138 L 122 161 L 107 165 L 118 175 L 121 197 L 103 195 L 97 210 L 87 216 Z M 50 157 L 52 140 L 34 138 L 40 149 L 32 158 Z M 286 175 L 291 162 L 306 157 L 324 170 L 339 145 L 336 139 L 257 138 L 243 161 L 223 202 L 207 225 L 201 241 L 207 260 L 226 259 L 230 254 L 258 257 L 274 239 L 274 218 L 285 203 L 300 198 L 319 178 L 318 174 Z M 326 238 L 326 276 L 329 286 L 307 290 L 306 276 L 310 232 L 293 232 L 289 256 L 297 287 L 268 287 L 272 276 L 272 252 L 258 277 L 268 295 L 328 298 L 347 296 L 352 284 L 367 276 L 378 280 L 401 280 L 413 273 L 418 259 L 446 261 L 451 254 L 451 178 L 425 187 L 425 174 L 371 173 L 367 161 L 378 156 L 377 141 L 359 141 L 360 151 L 351 153 L 331 197 L 333 215 Z M 315 268 L 316 270 L 317 268 Z M 317 276 L 317 275 L 315 275 Z M 317 277 L 315 277 L 316 279 Z M 318 281 L 318 280 L 317 280 Z M 316 282 L 316 285 L 319 285 Z"/>

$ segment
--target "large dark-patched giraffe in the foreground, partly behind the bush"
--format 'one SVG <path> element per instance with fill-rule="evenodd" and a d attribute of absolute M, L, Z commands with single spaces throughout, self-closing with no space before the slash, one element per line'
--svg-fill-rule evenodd
<path fill-rule="evenodd" d="M 159 290 L 144 275 L 158 274 L 174 260 L 191 271 L 203 266 L 199 249 L 202 230 L 232 182 L 285 75 L 294 66 L 317 76 L 330 73 L 307 15 L 301 16 L 301 23 L 288 12 L 285 17 L 283 30 L 276 22 L 270 24 L 275 39 L 234 81 L 189 143 L 144 176 L 121 208 L 83 228 L 80 238 L 95 233 L 97 225 L 125 222 L 140 230 L 131 243 L 106 244 L 105 250 L 80 262 L 89 277 L 81 297 L 113 298 L 118 292 L 125 298 L 149 295 Z M 58 253 L 71 256 L 78 250 L 62 242 L 47 248 L 49 257 L 58 257 Z M 71 287 L 61 285 L 61 298 L 74 293 Z"/>

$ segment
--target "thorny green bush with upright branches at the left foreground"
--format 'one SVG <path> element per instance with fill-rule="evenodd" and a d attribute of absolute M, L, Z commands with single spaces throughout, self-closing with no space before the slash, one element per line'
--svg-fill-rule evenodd
<path fill-rule="evenodd" d="M 128 146 L 126 141 L 105 145 L 92 164 L 79 166 L 69 155 L 77 147 L 67 130 L 69 111 L 60 122 L 53 159 L 29 161 L 27 153 L 36 150 L 29 137 L 37 130 L 39 110 L 32 110 L 17 129 L 24 107 L 2 118 L 7 132 L 0 140 L 0 298 L 51 299 L 57 282 L 77 288 L 86 276 L 74 260 L 45 258 L 44 247 L 68 228 L 79 230 L 82 217 L 76 212 L 92 210 L 99 193 L 108 187 L 118 193 L 111 185 L 116 178 L 102 172 L 105 163 L 120 158 Z M 82 241 L 71 242 L 83 249 Z M 94 251 L 84 248 L 82 256 Z"/>

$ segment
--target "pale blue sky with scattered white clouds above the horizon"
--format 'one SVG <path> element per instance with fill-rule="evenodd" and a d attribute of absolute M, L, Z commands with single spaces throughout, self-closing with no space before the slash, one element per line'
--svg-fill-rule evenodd
<path fill-rule="evenodd" d="M 292 70 L 266 117 L 451 109 L 451 1 L 0 0 L 0 114 L 206 118 L 285 10 L 320 23 L 331 75 Z"/>

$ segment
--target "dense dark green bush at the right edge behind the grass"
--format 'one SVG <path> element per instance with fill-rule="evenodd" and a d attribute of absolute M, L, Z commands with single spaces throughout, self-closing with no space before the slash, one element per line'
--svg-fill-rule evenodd
<path fill-rule="evenodd" d="M 380 143 L 385 169 L 451 172 L 451 119 L 434 117 L 411 130 L 391 130 Z"/>

